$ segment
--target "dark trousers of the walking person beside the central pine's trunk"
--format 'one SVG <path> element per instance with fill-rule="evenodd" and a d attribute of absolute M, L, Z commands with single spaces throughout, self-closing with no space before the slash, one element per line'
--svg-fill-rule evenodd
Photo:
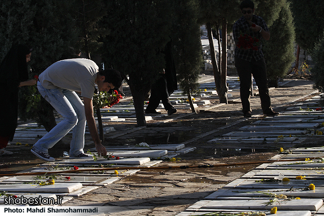
<path fill-rule="evenodd" d="M 167 92 L 166 80 L 164 76 L 160 76 L 161 77 L 151 87 L 151 96 L 146 110 L 155 110 L 156 108 L 158 108 L 160 101 L 162 101 L 162 104 L 166 111 L 173 108 L 169 100 L 169 93 Z"/>

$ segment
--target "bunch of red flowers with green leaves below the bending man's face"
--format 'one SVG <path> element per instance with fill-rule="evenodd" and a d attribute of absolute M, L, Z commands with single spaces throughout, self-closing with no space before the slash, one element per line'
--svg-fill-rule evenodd
<path fill-rule="evenodd" d="M 118 94 L 116 90 L 109 94 L 108 92 L 99 92 L 98 94 L 93 95 L 92 105 L 94 109 L 98 108 L 110 108 L 111 106 L 117 104 L 119 99 L 123 97 Z"/>

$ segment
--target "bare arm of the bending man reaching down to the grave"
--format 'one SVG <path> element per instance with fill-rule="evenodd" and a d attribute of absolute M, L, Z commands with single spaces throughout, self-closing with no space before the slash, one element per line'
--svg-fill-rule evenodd
<path fill-rule="evenodd" d="M 101 144 L 96 121 L 93 116 L 93 106 L 92 106 L 92 99 L 83 97 L 83 104 L 84 104 L 84 111 L 85 111 L 85 118 L 88 125 L 88 129 L 90 131 L 90 135 L 92 137 L 92 140 L 94 141 L 96 145 L 96 149 L 99 156 L 106 156 L 107 150 L 106 148 Z"/>

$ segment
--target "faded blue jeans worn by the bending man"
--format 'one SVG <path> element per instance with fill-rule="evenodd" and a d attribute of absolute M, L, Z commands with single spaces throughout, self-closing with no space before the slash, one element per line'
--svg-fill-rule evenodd
<path fill-rule="evenodd" d="M 47 89 L 38 81 L 37 88 L 40 94 L 55 110 L 64 118 L 49 133 L 39 139 L 33 147 L 41 152 L 48 153 L 63 136 L 73 128 L 72 141 L 70 143 L 70 156 L 83 153 L 85 112 L 84 105 L 79 96 L 74 92 L 62 88 Z"/>

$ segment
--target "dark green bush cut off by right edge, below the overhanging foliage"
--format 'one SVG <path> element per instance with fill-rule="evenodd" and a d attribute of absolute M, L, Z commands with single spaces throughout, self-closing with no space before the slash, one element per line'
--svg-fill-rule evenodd
<path fill-rule="evenodd" d="M 324 92 L 324 36 L 315 44 L 315 48 L 311 53 L 314 61 L 314 67 L 312 69 L 314 88 L 320 92 Z"/>

